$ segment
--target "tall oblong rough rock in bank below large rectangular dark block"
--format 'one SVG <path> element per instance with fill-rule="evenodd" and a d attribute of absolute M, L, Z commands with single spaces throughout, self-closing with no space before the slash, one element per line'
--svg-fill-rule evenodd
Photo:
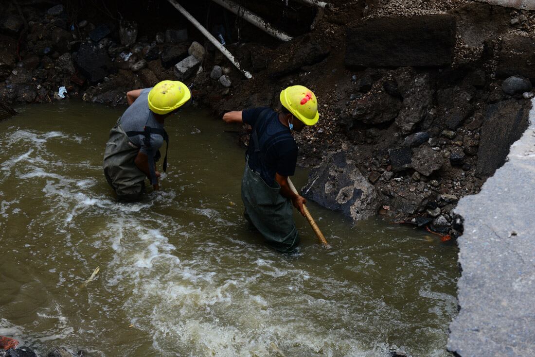
<path fill-rule="evenodd" d="M 404 95 L 401 110 L 395 119 L 403 134 L 409 134 L 421 122 L 433 104 L 434 91 L 431 89 L 429 75 L 418 75 Z"/>

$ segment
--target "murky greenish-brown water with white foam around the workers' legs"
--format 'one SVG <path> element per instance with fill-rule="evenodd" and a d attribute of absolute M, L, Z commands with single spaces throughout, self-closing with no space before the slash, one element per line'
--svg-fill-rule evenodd
<path fill-rule="evenodd" d="M 242 218 L 232 127 L 195 108 L 166 122 L 162 191 L 118 204 L 101 163 L 121 110 L 33 105 L 0 122 L 0 335 L 41 354 L 448 355 L 454 246 L 311 203 L 331 249 L 296 216 L 299 252 L 270 250 Z"/>

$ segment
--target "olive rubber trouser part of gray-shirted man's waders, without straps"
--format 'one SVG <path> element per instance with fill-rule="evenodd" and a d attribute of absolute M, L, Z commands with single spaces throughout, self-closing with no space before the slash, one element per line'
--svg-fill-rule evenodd
<path fill-rule="evenodd" d="M 121 119 L 110 130 L 104 151 L 104 175 L 120 201 L 138 201 L 143 195 L 147 177 L 134 164 L 139 152 L 121 128 Z"/>

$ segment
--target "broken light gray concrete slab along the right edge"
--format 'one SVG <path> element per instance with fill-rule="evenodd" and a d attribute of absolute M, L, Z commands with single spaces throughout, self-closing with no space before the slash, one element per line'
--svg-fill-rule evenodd
<path fill-rule="evenodd" d="M 535 106 L 535 101 L 532 101 Z M 529 356 L 535 336 L 535 109 L 508 161 L 477 195 L 461 198 L 460 312 L 447 348 L 461 357 Z"/>

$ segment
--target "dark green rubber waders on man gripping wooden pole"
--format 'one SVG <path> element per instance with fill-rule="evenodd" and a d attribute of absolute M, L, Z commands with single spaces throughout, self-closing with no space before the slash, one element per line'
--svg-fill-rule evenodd
<path fill-rule="evenodd" d="M 291 201 L 280 195 L 280 185 L 270 187 L 246 162 L 241 181 L 245 218 L 264 236 L 266 242 L 283 253 L 295 250 L 299 235 Z"/>

